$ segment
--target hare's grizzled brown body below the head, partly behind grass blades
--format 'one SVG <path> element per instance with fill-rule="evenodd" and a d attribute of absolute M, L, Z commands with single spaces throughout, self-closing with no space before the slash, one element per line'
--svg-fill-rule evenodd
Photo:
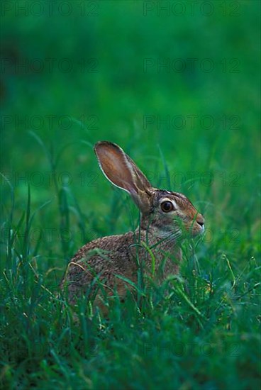
<path fill-rule="evenodd" d="M 111 250 L 113 240 L 113 250 Z M 91 241 L 72 258 L 64 282 L 68 284 L 69 300 L 76 303 L 77 299 L 86 294 L 95 277 L 99 277 L 99 283 L 109 296 L 115 294 L 114 289 L 120 298 L 126 294 L 126 286 L 131 288 L 127 280 L 136 283 L 139 264 L 146 274 L 152 274 L 152 257 L 148 249 L 142 243 L 155 245 L 150 252 L 155 259 L 157 279 L 162 279 L 167 274 L 176 274 L 178 262 L 181 260 L 179 247 L 167 243 L 167 240 L 152 235 L 144 229 L 137 229 L 135 232 L 128 232 L 123 235 L 111 235 Z M 99 254 L 101 250 L 101 255 Z M 159 271 L 162 260 L 165 260 L 164 269 Z M 113 272 L 111 272 L 113 269 Z M 124 277 L 126 280 L 121 279 Z M 94 287 L 95 289 L 95 287 Z M 99 300 L 99 294 L 97 294 Z M 98 303 L 98 300 L 96 301 Z"/>

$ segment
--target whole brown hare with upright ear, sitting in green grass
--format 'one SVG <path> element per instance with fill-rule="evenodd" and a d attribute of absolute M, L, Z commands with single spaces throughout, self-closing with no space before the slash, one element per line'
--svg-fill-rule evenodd
<path fill-rule="evenodd" d="M 115 143 L 96 143 L 94 152 L 109 182 L 127 191 L 140 209 L 140 224 L 134 232 L 87 243 L 72 257 L 62 279 L 70 303 L 95 291 L 94 305 L 103 311 L 104 292 L 109 298 L 117 293 L 124 300 L 126 291 L 138 280 L 139 267 L 143 267 L 143 274 L 159 280 L 177 274 L 182 260 L 177 241 L 184 232 L 203 233 L 204 217 L 183 194 L 153 188 Z"/>

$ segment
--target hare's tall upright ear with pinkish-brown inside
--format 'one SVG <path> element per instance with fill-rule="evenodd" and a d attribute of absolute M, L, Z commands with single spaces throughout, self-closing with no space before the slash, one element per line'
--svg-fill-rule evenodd
<path fill-rule="evenodd" d="M 116 145 L 101 141 L 94 146 L 102 172 L 115 186 L 127 191 L 143 213 L 150 211 L 152 186 L 133 160 Z"/>

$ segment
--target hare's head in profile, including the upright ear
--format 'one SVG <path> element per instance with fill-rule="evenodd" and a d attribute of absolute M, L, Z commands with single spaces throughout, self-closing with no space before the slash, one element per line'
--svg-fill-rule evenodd
<path fill-rule="evenodd" d="M 109 181 L 130 194 L 141 212 L 141 228 L 159 237 L 179 236 L 187 230 L 204 232 L 204 217 L 191 201 L 177 192 L 155 189 L 133 160 L 114 143 L 101 141 L 94 147 L 102 172 Z"/>

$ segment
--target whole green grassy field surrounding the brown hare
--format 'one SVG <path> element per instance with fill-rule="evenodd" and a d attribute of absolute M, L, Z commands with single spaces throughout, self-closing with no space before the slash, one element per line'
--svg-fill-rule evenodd
<path fill-rule="evenodd" d="M 48 4 L 1 9 L 1 387 L 260 388 L 260 2 Z M 138 223 L 98 140 L 206 234 L 179 275 L 75 322 L 70 258 Z"/>

